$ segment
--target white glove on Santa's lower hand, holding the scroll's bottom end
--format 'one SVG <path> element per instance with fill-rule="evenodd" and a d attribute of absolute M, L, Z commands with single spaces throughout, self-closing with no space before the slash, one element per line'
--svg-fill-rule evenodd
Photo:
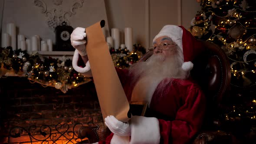
<path fill-rule="evenodd" d="M 109 130 L 118 136 L 130 136 L 131 126 L 129 123 L 123 123 L 118 121 L 113 115 L 107 116 L 105 118 L 105 125 Z"/>

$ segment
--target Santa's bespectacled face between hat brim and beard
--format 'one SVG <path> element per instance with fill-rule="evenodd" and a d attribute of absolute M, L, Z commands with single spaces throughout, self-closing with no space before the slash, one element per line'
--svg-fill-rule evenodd
<path fill-rule="evenodd" d="M 161 36 L 153 42 L 154 55 L 161 55 L 164 59 L 177 53 L 177 45 L 167 36 Z"/>

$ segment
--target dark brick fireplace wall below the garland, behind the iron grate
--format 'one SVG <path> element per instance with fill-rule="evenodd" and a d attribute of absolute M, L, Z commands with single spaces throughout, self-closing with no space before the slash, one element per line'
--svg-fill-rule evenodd
<path fill-rule="evenodd" d="M 23 144 L 21 142 L 26 141 L 26 131 L 22 131 L 22 137 L 8 138 L 10 128 L 15 126 L 29 128 L 47 124 L 54 132 L 58 123 L 67 123 L 72 129 L 76 123 L 86 125 L 89 121 L 102 126 L 93 82 L 69 89 L 64 94 L 56 88 L 44 88 L 22 77 L 0 79 L 0 135 L 3 136 L 0 143 Z M 59 131 L 65 131 L 65 128 Z"/>

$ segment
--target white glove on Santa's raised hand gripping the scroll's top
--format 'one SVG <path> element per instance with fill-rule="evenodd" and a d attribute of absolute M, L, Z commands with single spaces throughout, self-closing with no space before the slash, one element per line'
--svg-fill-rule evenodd
<path fill-rule="evenodd" d="M 75 28 L 70 36 L 71 45 L 78 50 L 81 56 L 87 55 L 86 49 L 85 49 L 85 43 L 86 43 L 86 40 L 84 40 L 85 37 L 86 37 L 85 28 L 82 28 L 82 27 Z"/>

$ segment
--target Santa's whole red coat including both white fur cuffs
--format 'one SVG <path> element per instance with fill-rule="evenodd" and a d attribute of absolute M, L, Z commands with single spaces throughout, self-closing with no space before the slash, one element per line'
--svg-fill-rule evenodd
<path fill-rule="evenodd" d="M 89 62 L 79 66 L 75 50 L 72 65 L 77 72 L 91 76 Z M 131 100 L 136 80 L 128 70 L 116 69 L 128 100 Z M 162 92 L 164 91 L 164 92 Z M 131 118 L 130 144 L 187 144 L 200 130 L 206 108 L 205 97 L 199 86 L 189 79 L 163 79 L 155 88 L 150 103 L 151 118 Z M 135 123 L 135 124 L 133 124 Z M 136 125 L 137 124 L 137 125 Z M 114 138 L 113 138 L 114 137 Z M 115 139 L 115 142 L 113 141 Z M 110 134 L 98 144 L 125 144 L 120 137 Z"/>

